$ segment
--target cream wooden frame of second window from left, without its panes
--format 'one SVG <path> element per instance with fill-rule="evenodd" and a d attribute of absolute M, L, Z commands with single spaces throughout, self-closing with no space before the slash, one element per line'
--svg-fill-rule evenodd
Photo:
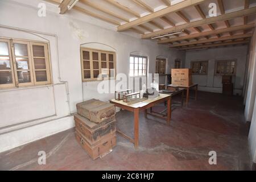
<path fill-rule="evenodd" d="M 84 59 L 82 52 L 83 51 L 88 51 L 89 52 L 89 60 Z M 98 60 L 93 60 L 93 52 L 97 52 L 98 53 Z M 102 61 L 101 60 L 101 53 L 105 53 L 106 54 L 106 61 Z M 113 61 L 109 60 L 109 55 L 113 55 Z M 86 82 L 86 81 L 98 81 L 98 80 L 106 80 L 106 79 L 115 79 L 115 75 L 116 75 L 116 56 L 115 56 L 115 52 L 112 51 L 104 51 L 101 49 L 93 49 L 93 48 L 87 48 L 87 47 L 80 47 L 80 59 L 81 59 L 81 72 L 82 72 L 82 81 Z M 90 69 L 84 69 L 84 61 L 90 61 Z M 98 68 L 97 69 L 99 71 L 100 74 L 100 78 L 94 78 L 93 77 L 93 71 L 95 69 L 93 69 L 93 61 L 98 61 Z M 101 63 L 102 62 L 106 62 L 106 67 L 107 68 L 101 68 Z M 113 63 L 113 67 L 112 69 L 114 69 L 114 77 L 110 77 L 110 68 L 109 68 L 109 64 Z M 102 69 L 106 69 L 108 70 L 108 77 L 102 77 Z M 84 78 L 84 71 L 90 71 L 90 78 Z"/>

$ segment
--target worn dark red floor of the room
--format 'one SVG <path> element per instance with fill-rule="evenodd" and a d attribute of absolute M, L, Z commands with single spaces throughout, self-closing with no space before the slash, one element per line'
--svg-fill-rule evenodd
<path fill-rule="evenodd" d="M 178 100 L 179 98 L 177 98 Z M 163 105 L 156 110 L 163 109 Z M 133 114 L 117 114 L 117 127 L 133 136 Z M 117 135 L 117 146 L 92 160 L 70 129 L 0 154 L 1 170 L 248 170 L 251 169 L 241 97 L 199 92 L 172 112 L 171 125 L 141 113 L 139 148 Z M 38 164 L 38 151 L 47 154 Z M 209 151 L 217 164 L 210 165 Z"/>

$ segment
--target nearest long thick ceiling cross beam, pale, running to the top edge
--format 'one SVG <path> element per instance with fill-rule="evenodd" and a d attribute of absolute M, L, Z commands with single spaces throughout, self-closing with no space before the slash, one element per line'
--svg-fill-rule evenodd
<path fill-rule="evenodd" d="M 106 1 L 113 1 L 113 0 L 106 0 Z M 198 5 L 203 2 L 205 2 L 205 0 L 186 0 L 186 1 L 183 1 L 180 3 L 177 3 L 175 5 L 166 7 L 165 9 L 155 11 L 154 13 L 151 13 L 151 14 L 148 14 L 141 18 L 135 19 L 132 22 L 122 24 L 122 26 L 118 27 L 118 31 L 125 31 L 131 27 L 138 26 L 139 24 L 150 22 L 151 20 L 153 20 L 155 18 L 160 18 L 166 14 L 175 13 L 177 11 L 184 9 L 185 7 L 195 6 L 195 5 Z"/>

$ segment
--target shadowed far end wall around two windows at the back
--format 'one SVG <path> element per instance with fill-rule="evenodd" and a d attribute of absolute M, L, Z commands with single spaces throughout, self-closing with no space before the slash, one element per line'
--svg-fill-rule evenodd
<path fill-rule="evenodd" d="M 246 70 L 247 46 L 211 48 L 186 52 L 185 68 L 191 68 L 191 61 L 208 60 L 208 75 L 193 75 L 194 83 L 199 84 L 199 90 L 207 92 L 222 92 L 221 76 L 214 75 L 215 61 L 236 59 L 237 73 L 233 76 L 234 94 L 242 95 Z"/>

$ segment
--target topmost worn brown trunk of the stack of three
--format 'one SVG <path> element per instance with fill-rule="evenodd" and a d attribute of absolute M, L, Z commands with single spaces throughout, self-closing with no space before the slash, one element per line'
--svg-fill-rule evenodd
<path fill-rule="evenodd" d="M 95 123 L 104 122 L 115 115 L 115 107 L 108 102 L 88 100 L 76 105 L 77 113 Z"/>

